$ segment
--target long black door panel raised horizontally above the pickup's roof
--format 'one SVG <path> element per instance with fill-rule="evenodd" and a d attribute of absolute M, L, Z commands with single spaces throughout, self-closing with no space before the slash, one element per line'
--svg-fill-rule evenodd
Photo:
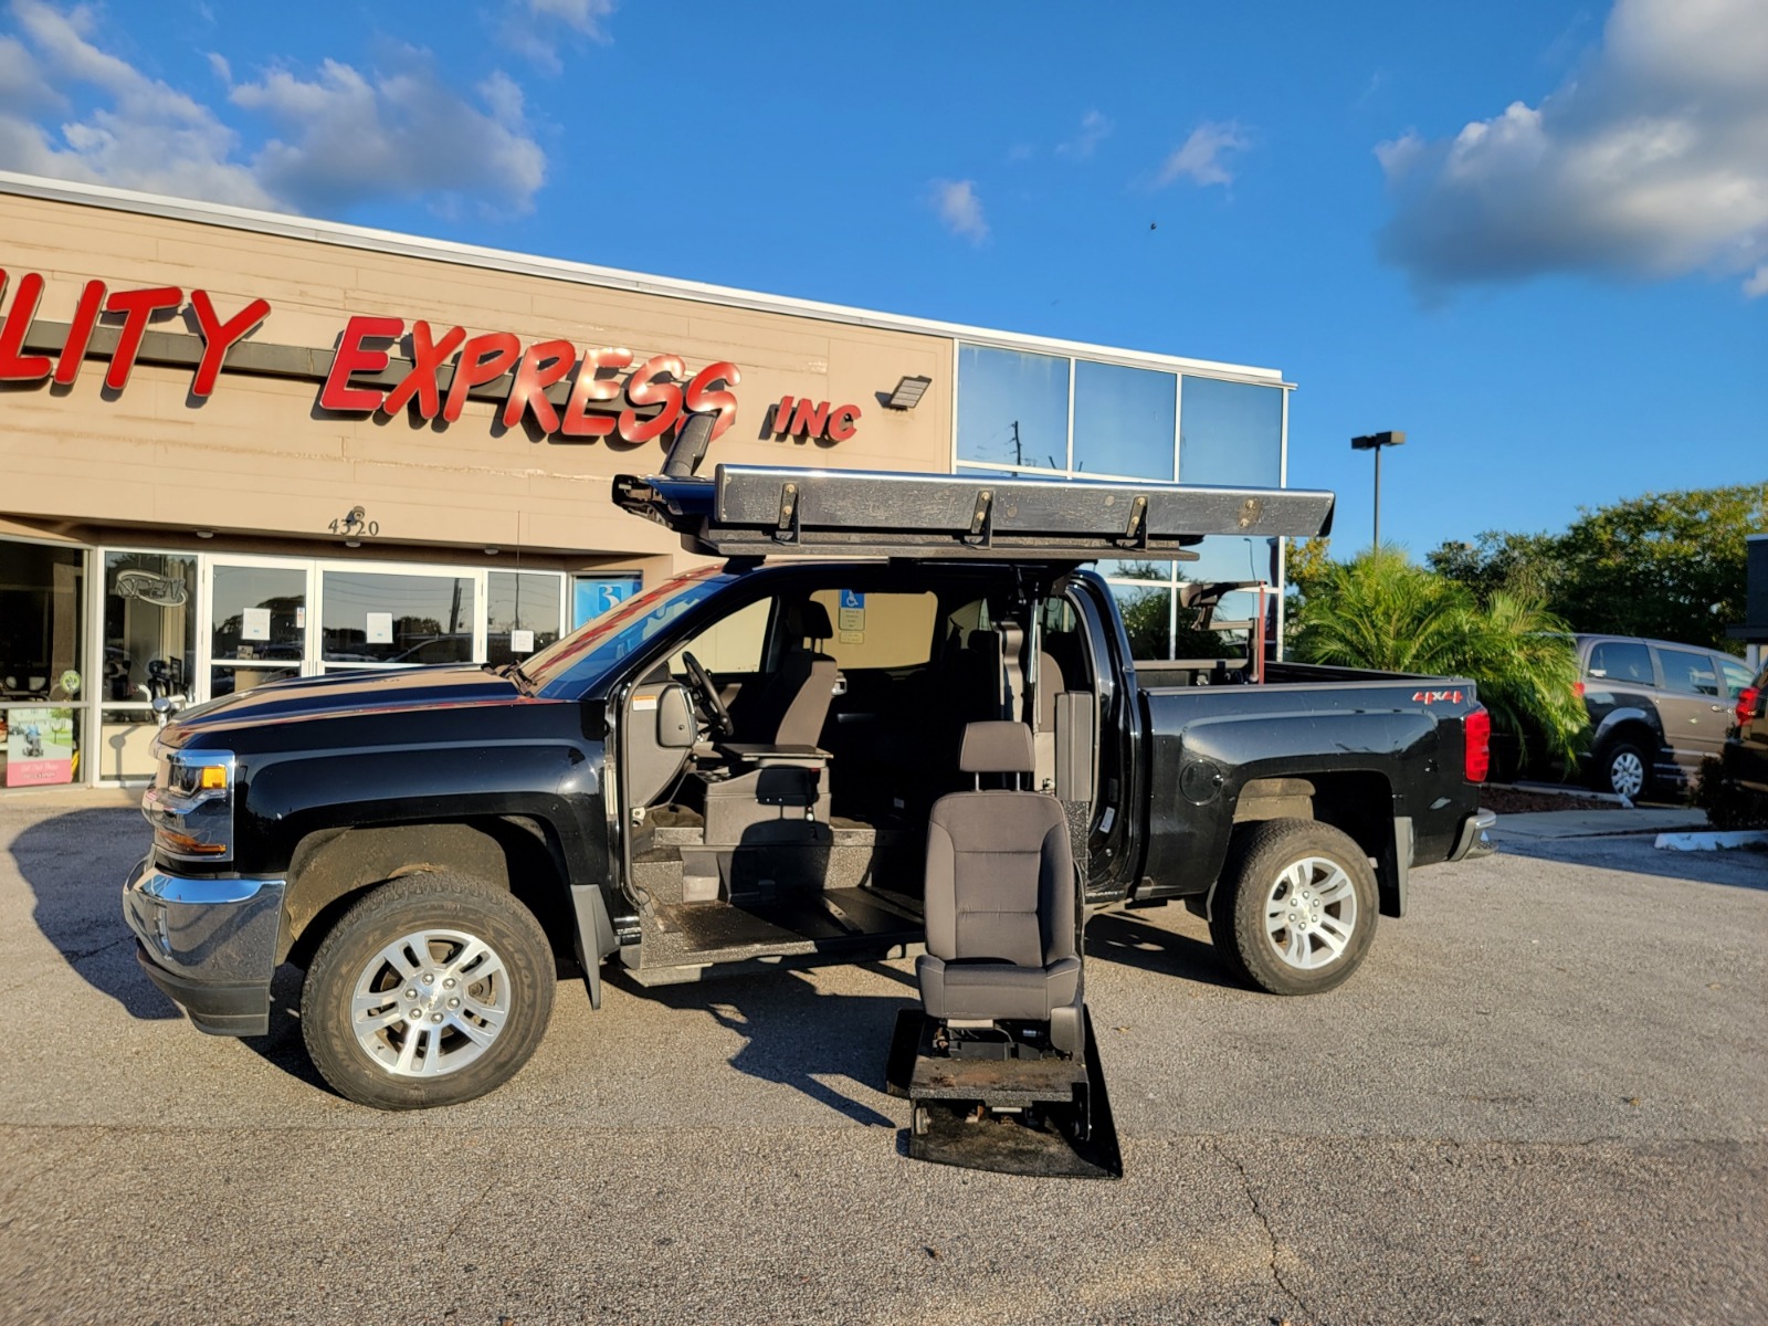
<path fill-rule="evenodd" d="M 849 557 L 1133 557 L 1192 560 L 1209 534 L 1331 532 L 1333 495 L 1098 479 L 720 465 L 716 477 L 622 474 L 617 506 L 667 525 L 688 552 Z"/>

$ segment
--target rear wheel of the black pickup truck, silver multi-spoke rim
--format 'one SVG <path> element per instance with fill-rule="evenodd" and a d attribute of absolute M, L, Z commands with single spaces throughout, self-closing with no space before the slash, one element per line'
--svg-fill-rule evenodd
<path fill-rule="evenodd" d="M 1312 865 L 1284 880 L 1305 863 Z M 1268 912 L 1268 902 L 1289 898 L 1294 912 Z M 1264 820 L 1234 831 L 1209 937 L 1243 981 L 1280 995 L 1321 994 L 1361 965 L 1376 939 L 1376 872 L 1347 833 L 1317 820 Z"/>

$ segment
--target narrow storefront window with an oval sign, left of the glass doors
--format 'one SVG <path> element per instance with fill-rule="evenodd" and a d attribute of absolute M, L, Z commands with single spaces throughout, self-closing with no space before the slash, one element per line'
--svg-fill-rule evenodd
<path fill-rule="evenodd" d="M 156 698 L 189 697 L 196 667 L 196 559 L 182 553 L 104 555 L 106 702 L 97 760 L 103 778 L 149 778 L 159 730 Z"/>

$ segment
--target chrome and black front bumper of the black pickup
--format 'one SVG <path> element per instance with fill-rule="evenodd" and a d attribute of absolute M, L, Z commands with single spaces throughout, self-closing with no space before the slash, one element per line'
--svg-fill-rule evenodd
<path fill-rule="evenodd" d="M 283 921 L 281 879 L 186 879 L 141 861 L 122 889 L 143 971 L 198 1031 L 263 1036 Z"/>

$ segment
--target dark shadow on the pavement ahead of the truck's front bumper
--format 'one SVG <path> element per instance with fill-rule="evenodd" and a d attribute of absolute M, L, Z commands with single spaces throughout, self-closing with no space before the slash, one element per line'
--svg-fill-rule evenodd
<path fill-rule="evenodd" d="M 74 810 L 27 824 L 7 850 L 30 886 L 37 930 L 92 988 L 143 1020 L 182 1017 L 141 972 L 122 919 L 122 884 L 147 849 L 127 808 Z"/>

